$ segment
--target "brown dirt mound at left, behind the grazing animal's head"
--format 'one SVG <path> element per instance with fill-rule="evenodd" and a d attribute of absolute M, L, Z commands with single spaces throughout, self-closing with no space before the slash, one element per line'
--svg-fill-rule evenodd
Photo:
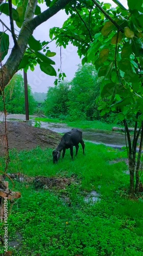
<path fill-rule="evenodd" d="M 48 129 L 33 127 L 25 122 L 7 122 L 9 149 L 31 150 L 37 146 L 54 148 L 61 135 Z M 0 156 L 6 153 L 5 123 L 0 123 Z"/>

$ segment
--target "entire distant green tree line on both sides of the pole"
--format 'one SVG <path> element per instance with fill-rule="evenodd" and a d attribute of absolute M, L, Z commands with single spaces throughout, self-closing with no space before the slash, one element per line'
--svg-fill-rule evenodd
<path fill-rule="evenodd" d="M 91 64 L 78 65 L 74 78 L 64 80 L 57 86 L 49 87 L 47 94 L 32 93 L 28 86 L 30 115 L 44 114 L 62 120 L 101 120 L 115 121 L 116 114 L 107 113 L 102 117 L 99 110 L 102 78 L 98 78 Z M 6 110 L 12 114 L 25 114 L 24 82 L 21 74 L 16 74 L 5 88 Z M 40 105 L 38 103 L 41 103 Z M 4 111 L 2 96 L 0 112 Z"/>

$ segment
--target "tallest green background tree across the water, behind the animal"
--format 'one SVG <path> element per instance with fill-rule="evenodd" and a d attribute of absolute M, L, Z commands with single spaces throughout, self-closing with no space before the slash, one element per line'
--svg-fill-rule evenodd
<path fill-rule="evenodd" d="M 100 81 L 95 67 L 91 64 L 79 65 L 71 81 L 69 92 L 69 115 L 71 120 L 97 117 L 96 99 L 100 92 Z"/>

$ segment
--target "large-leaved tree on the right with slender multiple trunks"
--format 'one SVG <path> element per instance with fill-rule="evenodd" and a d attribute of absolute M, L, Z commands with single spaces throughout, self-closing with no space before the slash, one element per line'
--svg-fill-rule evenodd
<path fill-rule="evenodd" d="M 118 6 L 116 9 L 96 0 L 82 2 L 82 5 L 71 8 L 71 16 L 61 29 L 50 30 L 50 38 L 54 36 L 58 46 L 66 47 L 69 41 L 77 46 L 79 56 L 84 56 L 82 64 L 92 62 L 98 76 L 104 77 L 100 87 L 99 110 L 101 115 L 110 110 L 117 112 L 117 118 L 124 122 L 128 140 L 130 193 L 138 193 L 143 142 L 142 0 L 128 0 L 128 9 L 118 0 L 113 0 Z M 135 123 L 133 141 L 127 125 L 130 118 Z"/>

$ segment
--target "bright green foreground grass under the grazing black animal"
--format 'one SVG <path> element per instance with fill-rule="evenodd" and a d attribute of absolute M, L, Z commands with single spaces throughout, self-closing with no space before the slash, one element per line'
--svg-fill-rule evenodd
<path fill-rule="evenodd" d="M 15 181 L 14 190 L 22 197 L 15 201 L 8 219 L 9 244 L 19 239 L 19 245 L 9 247 L 13 255 L 142 256 L 142 199 L 124 197 L 129 185 L 125 162 L 109 163 L 124 158 L 125 153 L 87 142 L 85 156 L 79 148 L 71 161 L 67 151 L 65 159 L 53 165 L 51 152 L 41 148 L 11 151 L 8 173 L 75 177 L 75 182 L 60 190 L 36 190 Z M 3 169 L 4 159 L 0 163 Z M 85 203 L 85 195 L 92 190 L 100 193 L 101 201 Z"/>

